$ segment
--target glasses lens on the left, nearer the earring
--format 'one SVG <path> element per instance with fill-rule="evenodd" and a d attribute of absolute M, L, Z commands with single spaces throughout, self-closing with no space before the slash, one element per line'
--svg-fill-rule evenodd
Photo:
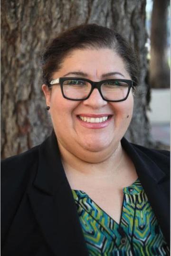
<path fill-rule="evenodd" d="M 63 92 L 70 99 L 84 99 L 91 91 L 91 84 L 79 79 L 69 79 L 63 82 Z"/>

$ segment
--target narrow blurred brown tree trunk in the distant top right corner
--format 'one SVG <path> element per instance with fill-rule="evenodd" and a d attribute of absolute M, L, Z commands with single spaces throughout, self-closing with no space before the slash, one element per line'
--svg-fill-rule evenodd
<path fill-rule="evenodd" d="M 170 69 L 167 59 L 168 5 L 168 0 L 153 0 L 150 60 L 150 85 L 153 88 L 170 87 Z"/>

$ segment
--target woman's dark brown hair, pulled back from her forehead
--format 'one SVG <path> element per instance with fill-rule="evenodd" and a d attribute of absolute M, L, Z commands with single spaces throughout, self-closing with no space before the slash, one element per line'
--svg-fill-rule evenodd
<path fill-rule="evenodd" d="M 67 54 L 76 49 L 108 48 L 123 59 L 131 79 L 138 83 L 138 65 L 133 49 L 113 30 L 96 24 L 84 24 L 60 33 L 47 46 L 42 58 L 43 82 L 49 85 L 53 73 L 60 69 Z"/>

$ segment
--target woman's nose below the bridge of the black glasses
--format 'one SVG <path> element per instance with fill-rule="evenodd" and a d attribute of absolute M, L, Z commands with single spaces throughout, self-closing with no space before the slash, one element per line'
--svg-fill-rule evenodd
<path fill-rule="evenodd" d="M 98 89 L 95 88 L 93 90 L 92 94 L 89 96 L 89 98 L 83 101 L 83 104 L 85 106 L 90 106 L 90 107 L 93 107 L 93 108 L 99 108 L 99 107 L 104 107 L 105 105 L 107 105 L 107 101 L 105 101 L 102 98 Z"/>

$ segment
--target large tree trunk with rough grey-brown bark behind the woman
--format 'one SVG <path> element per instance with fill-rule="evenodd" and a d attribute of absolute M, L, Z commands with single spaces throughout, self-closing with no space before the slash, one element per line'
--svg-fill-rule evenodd
<path fill-rule="evenodd" d="M 1 155 L 19 154 L 42 142 L 51 122 L 41 92 L 40 53 L 58 32 L 81 23 L 118 30 L 139 54 L 140 84 L 126 137 L 149 146 L 145 0 L 1 1 Z"/>

